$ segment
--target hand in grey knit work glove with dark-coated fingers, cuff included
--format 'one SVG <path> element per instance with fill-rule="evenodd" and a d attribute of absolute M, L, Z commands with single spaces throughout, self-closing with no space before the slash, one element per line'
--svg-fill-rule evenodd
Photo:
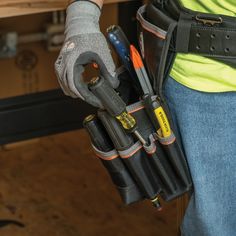
<path fill-rule="evenodd" d="M 119 85 L 110 50 L 99 28 L 100 14 L 100 8 L 89 1 L 77 1 L 69 5 L 65 43 L 55 63 L 55 69 L 66 95 L 80 97 L 93 106 L 103 108 L 82 77 L 84 65 L 95 62 L 101 75 L 113 88 Z"/>

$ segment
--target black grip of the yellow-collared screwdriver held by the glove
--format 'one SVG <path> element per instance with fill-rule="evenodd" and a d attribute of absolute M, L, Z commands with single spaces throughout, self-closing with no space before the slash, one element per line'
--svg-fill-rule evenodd
<path fill-rule="evenodd" d="M 89 88 L 113 117 L 119 116 L 126 110 L 124 101 L 103 77 L 94 78 Z"/>

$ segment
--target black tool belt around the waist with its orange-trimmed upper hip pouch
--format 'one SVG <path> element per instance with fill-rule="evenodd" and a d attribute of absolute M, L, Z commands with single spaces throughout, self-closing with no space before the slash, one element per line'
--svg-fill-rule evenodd
<path fill-rule="evenodd" d="M 177 0 L 153 0 L 137 13 L 140 48 L 162 96 L 176 53 L 193 53 L 236 68 L 236 18 L 191 11 Z"/>

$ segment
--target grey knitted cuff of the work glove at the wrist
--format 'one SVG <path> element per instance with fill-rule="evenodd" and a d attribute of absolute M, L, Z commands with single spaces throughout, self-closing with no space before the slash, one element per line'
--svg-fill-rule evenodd
<path fill-rule="evenodd" d="M 79 34 L 100 33 L 100 8 L 90 1 L 76 1 L 66 11 L 66 40 Z"/>

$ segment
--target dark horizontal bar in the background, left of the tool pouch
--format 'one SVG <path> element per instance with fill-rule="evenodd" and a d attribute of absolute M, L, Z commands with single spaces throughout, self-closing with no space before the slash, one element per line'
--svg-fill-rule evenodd
<path fill-rule="evenodd" d="M 95 108 L 61 90 L 0 100 L 0 144 L 82 128 Z"/>

